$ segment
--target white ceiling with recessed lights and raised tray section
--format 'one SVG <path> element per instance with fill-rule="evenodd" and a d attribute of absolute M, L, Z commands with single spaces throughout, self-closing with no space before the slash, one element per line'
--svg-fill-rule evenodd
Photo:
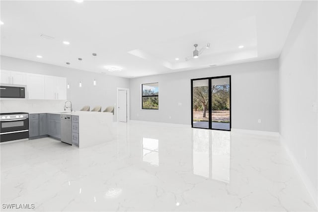
<path fill-rule="evenodd" d="M 4 56 L 123 77 L 271 59 L 279 57 L 300 3 L 1 0 L 0 50 Z M 210 49 L 185 62 L 193 44 L 200 49 L 208 42 Z"/>

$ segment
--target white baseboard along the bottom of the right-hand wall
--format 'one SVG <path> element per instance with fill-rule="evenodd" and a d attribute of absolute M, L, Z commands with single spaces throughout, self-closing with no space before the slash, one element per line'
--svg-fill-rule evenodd
<path fill-rule="evenodd" d="M 318 191 L 315 190 L 312 181 L 308 178 L 307 174 L 304 172 L 304 169 L 299 165 L 293 152 L 286 145 L 286 143 L 284 142 L 284 139 L 282 137 L 280 137 L 280 143 L 282 144 L 282 146 L 284 146 L 289 158 L 291 159 L 292 163 L 294 164 L 295 169 L 297 170 L 298 174 L 300 175 L 307 191 L 309 192 L 310 196 L 313 198 L 316 207 L 318 207 Z"/>

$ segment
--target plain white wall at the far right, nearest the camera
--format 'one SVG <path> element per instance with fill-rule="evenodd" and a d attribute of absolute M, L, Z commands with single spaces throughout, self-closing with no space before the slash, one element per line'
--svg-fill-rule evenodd
<path fill-rule="evenodd" d="M 303 1 L 279 58 L 280 134 L 317 205 L 317 1 Z"/>

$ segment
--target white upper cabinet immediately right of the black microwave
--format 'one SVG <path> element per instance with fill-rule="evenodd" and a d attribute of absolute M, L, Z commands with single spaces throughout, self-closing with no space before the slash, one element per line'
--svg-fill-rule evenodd
<path fill-rule="evenodd" d="M 27 98 L 45 99 L 45 75 L 26 74 Z"/>

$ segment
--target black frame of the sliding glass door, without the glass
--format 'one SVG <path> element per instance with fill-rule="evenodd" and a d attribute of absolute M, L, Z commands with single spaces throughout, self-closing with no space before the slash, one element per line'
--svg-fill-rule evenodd
<path fill-rule="evenodd" d="M 229 77 L 229 79 L 230 79 L 230 130 L 213 129 L 212 128 L 212 93 L 210 92 L 211 91 L 211 87 L 212 87 L 212 79 L 226 78 L 226 77 Z M 232 84 L 231 84 L 231 75 L 212 76 L 212 77 L 203 77 L 203 78 L 191 79 L 191 128 L 198 128 L 198 127 L 193 127 L 193 81 L 194 80 L 201 80 L 201 79 L 208 79 L 209 80 L 209 128 L 199 128 L 199 129 L 231 131 L 231 129 L 232 129 Z"/>

